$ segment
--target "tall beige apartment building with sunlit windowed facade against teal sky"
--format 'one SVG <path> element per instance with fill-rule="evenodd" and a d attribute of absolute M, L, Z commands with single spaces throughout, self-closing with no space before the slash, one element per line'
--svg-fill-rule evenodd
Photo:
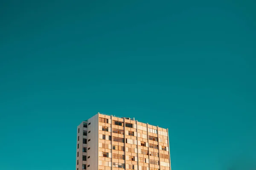
<path fill-rule="evenodd" d="M 171 170 L 168 129 L 98 113 L 77 127 L 76 170 Z"/>

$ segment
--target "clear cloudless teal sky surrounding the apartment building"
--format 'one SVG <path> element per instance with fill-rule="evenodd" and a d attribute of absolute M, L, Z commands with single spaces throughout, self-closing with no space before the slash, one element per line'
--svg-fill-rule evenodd
<path fill-rule="evenodd" d="M 256 1 L 0 3 L 0 170 L 75 170 L 98 112 L 168 128 L 172 170 L 255 167 Z"/>

